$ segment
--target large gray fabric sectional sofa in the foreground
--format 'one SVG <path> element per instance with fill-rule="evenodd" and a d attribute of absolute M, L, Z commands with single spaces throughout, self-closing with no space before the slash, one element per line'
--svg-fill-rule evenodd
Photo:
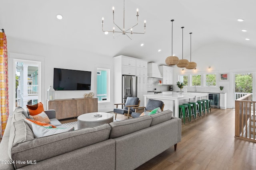
<path fill-rule="evenodd" d="M 181 119 L 170 110 L 39 138 L 23 113 L 8 118 L 0 169 L 132 170 L 181 141 Z"/>

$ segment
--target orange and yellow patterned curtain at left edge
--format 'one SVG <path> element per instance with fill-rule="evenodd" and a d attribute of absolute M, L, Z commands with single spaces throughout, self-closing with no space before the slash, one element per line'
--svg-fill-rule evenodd
<path fill-rule="evenodd" d="M 4 134 L 8 115 L 9 115 L 9 99 L 8 99 L 8 58 L 7 58 L 7 41 L 4 30 L 0 32 L 0 113 L 1 113 L 1 134 Z"/>

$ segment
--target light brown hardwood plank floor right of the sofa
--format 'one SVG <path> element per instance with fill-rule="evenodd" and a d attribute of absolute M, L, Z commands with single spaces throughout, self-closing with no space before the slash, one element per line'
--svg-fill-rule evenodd
<path fill-rule="evenodd" d="M 182 139 L 136 170 L 255 170 L 256 143 L 234 138 L 235 111 L 214 109 L 182 124 Z"/>

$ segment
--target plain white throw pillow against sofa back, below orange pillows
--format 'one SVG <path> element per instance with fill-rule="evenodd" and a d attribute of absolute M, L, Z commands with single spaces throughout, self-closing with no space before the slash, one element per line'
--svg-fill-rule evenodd
<path fill-rule="evenodd" d="M 32 123 L 32 130 L 35 137 L 44 137 L 49 135 L 54 135 L 58 133 L 74 131 L 74 127 L 70 128 L 52 128 L 52 127 L 44 127 L 37 125 L 36 123 Z"/>

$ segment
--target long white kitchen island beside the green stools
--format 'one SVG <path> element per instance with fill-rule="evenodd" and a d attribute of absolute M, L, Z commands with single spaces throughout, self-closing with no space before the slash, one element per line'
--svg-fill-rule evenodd
<path fill-rule="evenodd" d="M 145 94 L 144 95 L 144 106 L 148 102 L 148 99 L 161 100 L 164 102 L 164 110 L 171 110 L 173 112 L 173 116 L 179 117 L 179 105 L 188 103 L 188 102 L 196 102 L 197 100 L 208 99 L 208 93 L 178 93 L 172 92 L 172 95 L 163 95 L 163 94 Z"/>

